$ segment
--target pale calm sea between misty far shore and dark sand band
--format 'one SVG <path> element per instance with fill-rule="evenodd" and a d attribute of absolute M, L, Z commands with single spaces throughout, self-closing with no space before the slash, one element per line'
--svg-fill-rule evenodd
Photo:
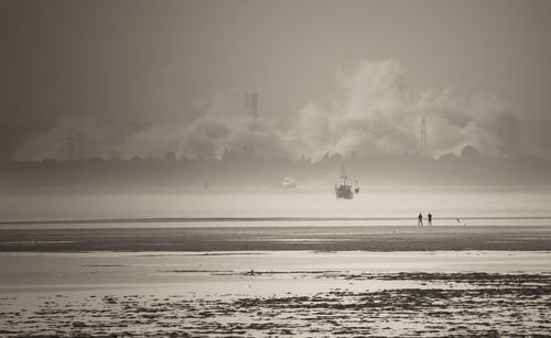
<path fill-rule="evenodd" d="M 1 221 L 204 217 L 415 219 L 419 212 L 453 220 L 551 217 L 551 187 L 363 187 L 352 200 L 336 199 L 331 186 L 0 195 Z"/>

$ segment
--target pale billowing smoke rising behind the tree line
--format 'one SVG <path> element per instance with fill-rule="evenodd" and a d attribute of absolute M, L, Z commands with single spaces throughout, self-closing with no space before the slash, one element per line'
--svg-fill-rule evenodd
<path fill-rule="evenodd" d="M 429 152 L 460 153 L 473 145 L 483 155 L 515 157 L 526 153 L 517 118 L 498 98 L 458 97 L 453 89 L 417 94 L 407 87 L 397 61 L 364 62 L 355 72 L 337 72 L 327 98 L 305 103 L 292 117 L 244 113 L 233 95 L 217 95 L 182 120 L 149 123 L 60 118 L 45 133 L 23 142 L 19 159 L 58 157 L 67 130 L 82 130 L 86 155 L 123 157 L 219 157 L 224 149 L 252 146 L 264 156 L 313 159 L 325 152 L 350 155 L 400 154 L 418 150 L 421 120 L 426 120 Z M 185 115 L 185 112 L 182 112 Z M 292 119 L 291 121 L 283 119 Z"/>

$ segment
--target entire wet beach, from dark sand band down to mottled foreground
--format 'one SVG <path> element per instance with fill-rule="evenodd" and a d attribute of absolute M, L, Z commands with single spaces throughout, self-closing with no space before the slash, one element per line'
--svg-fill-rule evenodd
<path fill-rule="evenodd" d="M 0 334 L 551 332 L 545 226 L 4 225 Z"/>

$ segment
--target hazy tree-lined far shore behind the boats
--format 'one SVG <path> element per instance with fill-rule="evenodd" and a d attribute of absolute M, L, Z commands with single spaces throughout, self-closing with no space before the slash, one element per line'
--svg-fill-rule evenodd
<path fill-rule="evenodd" d="M 8 161 L 0 163 L 0 187 L 33 186 L 280 186 L 293 177 L 299 186 L 332 185 L 342 168 L 360 185 L 551 185 L 551 161 L 533 156 L 482 156 L 474 146 L 437 159 L 419 153 L 360 156 L 325 153 L 318 161 L 269 157 L 252 148 L 226 150 L 220 159 Z"/>

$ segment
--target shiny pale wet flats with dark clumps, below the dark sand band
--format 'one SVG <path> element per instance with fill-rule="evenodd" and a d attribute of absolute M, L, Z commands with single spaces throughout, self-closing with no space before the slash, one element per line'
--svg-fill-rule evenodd
<path fill-rule="evenodd" d="M 1 253 L 0 334 L 545 335 L 550 260 L 519 251 Z"/>

